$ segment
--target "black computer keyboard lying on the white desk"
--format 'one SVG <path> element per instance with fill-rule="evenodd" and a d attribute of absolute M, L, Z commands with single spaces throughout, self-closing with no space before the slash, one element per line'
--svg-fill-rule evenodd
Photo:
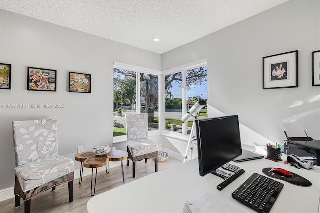
<path fill-rule="evenodd" d="M 283 183 L 253 173 L 232 197 L 257 212 L 269 212 L 283 186 Z"/>

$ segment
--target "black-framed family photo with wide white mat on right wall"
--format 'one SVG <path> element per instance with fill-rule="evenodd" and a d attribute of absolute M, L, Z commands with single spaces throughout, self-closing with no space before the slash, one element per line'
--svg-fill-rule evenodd
<path fill-rule="evenodd" d="M 298 87 L 298 51 L 263 57 L 263 89 Z"/>

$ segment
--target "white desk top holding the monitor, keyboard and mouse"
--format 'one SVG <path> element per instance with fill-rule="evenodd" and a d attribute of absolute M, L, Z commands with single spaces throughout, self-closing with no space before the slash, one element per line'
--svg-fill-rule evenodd
<path fill-rule="evenodd" d="M 286 159 L 286 156 L 283 157 Z M 316 170 L 297 169 L 285 165 L 283 161 L 273 162 L 265 158 L 231 163 L 243 168 L 245 173 L 222 191 L 217 190 L 216 186 L 223 179 L 213 174 L 201 177 L 196 158 L 96 195 L 88 201 L 87 209 L 88 212 L 182 212 L 186 200 L 196 200 L 211 191 L 234 205 L 254 212 L 233 199 L 231 193 L 252 173 L 264 175 L 262 168 L 277 167 L 299 174 L 311 181 L 312 186 L 301 187 L 276 179 L 284 187 L 271 212 L 319 212 L 320 167 L 316 166 Z"/>

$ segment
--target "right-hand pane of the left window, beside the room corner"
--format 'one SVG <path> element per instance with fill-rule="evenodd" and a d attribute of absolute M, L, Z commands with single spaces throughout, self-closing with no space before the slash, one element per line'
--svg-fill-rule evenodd
<path fill-rule="evenodd" d="M 159 129 L 159 76 L 140 73 L 140 105 L 141 113 L 148 114 L 150 130 Z"/>

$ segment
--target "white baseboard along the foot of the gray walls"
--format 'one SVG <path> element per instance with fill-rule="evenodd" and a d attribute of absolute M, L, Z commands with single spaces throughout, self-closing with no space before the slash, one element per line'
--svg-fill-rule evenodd
<path fill-rule="evenodd" d="M 173 157 L 177 160 L 183 161 L 183 156 L 180 153 L 168 150 L 168 149 L 164 149 L 164 151 L 168 152 L 169 157 Z M 79 163 L 76 162 L 75 163 Z M 126 161 L 123 161 L 123 164 L 125 164 Z M 110 168 L 114 168 L 117 166 L 121 165 L 121 162 L 109 162 Z M 98 168 L 98 172 L 100 171 L 105 171 L 105 167 L 100 167 Z M 93 169 L 93 173 L 95 173 L 95 169 Z M 92 170 L 91 169 L 87 169 L 84 168 L 83 169 L 83 177 L 84 176 L 88 176 L 92 174 Z M 74 183 L 78 183 L 79 182 L 79 177 L 80 177 L 80 169 L 77 169 L 74 171 Z M 14 198 L 14 187 L 10 187 L 10 188 L 5 188 L 3 190 L 0 190 L 0 202 L 7 200 L 7 199 L 11 199 Z"/>

